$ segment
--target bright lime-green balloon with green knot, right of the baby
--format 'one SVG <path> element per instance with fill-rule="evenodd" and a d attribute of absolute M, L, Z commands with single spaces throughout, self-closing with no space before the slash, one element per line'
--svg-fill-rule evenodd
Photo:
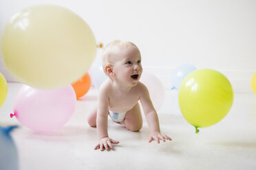
<path fill-rule="evenodd" d="M 179 90 L 179 104 L 186 121 L 196 128 L 221 121 L 233 104 L 231 83 L 222 73 L 199 69 L 187 75 Z"/>

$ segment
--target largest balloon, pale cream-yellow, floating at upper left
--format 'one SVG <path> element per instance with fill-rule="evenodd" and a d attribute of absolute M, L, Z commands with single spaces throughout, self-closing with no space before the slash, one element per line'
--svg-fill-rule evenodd
<path fill-rule="evenodd" d="M 23 84 L 58 88 L 82 77 L 96 53 L 87 23 L 56 5 L 36 5 L 14 14 L 1 39 L 3 62 Z"/>

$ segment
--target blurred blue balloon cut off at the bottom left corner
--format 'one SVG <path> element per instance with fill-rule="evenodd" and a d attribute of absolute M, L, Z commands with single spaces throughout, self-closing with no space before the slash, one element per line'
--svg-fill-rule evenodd
<path fill-rule="evenodd" d="M 10 136 L 10 132 L 17 126 L 0 126 L 0 169 L 18 170 L 19 158 L 17 148 Z"/>

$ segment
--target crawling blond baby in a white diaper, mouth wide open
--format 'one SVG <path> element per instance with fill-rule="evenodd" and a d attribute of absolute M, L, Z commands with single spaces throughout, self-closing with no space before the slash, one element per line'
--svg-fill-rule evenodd
<path fill-rule="evenodd" d="M 103 70 L 109 77 L 99 89 L 97 106 L 88 117 L 88 123 L 97 128 L 98 144 L 94 149 L 111 149 L 118 144 L 109 138 L 107 117 L 125 125 L 127 130 L 137 132 L 142 127 L 142 115 L 138 101 L 142 104 L 149 125 L 151 141 L 171 141 L 161 134 L 158 114 L 153 107 L 147 87 L 139 82 L 142 74 L 140 51 L 132 42 L 114 40 L 103 50 Z"/>

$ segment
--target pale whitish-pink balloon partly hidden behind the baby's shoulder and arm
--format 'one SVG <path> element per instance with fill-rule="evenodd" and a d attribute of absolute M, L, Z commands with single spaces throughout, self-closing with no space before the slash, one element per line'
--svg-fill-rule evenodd
<path fill-rule="evenodd" d="M 159 110 L 164 103 L 165 92 L 158 77 L 151 73 L 143 72 L 140 77 L 140 82 L 147 86 L 153 106 L 156 110 Z"/>

